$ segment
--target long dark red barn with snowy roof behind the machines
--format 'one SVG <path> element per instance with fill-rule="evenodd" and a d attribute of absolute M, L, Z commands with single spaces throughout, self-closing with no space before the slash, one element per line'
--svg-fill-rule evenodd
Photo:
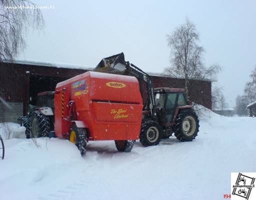
<path fill-rule="evenodd" d="M 16 60 L 0 62 L 0 96 L 8 102 L 6 110 L 0 104 L 0 120 L 17 122 L 25 115 L 29 104 L 35 104 L 37 93 L 54 90 L 56 83 L 92 70 L 92 67 L 60 63 Z M 185 80 L 161 73 L 150 73 L 154 87 L 184 88 Z M 190 100 L 211 109 L 211 81 L 191 80 Z"/>

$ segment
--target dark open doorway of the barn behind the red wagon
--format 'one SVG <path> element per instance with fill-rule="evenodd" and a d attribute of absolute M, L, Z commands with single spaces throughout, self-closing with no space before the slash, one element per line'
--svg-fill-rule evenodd
<path fill-rule="evenodd" d="M 43 91 L 54 91 L 56 84 L 66 79 L 68 78 L 45 75 L 30 75 L 29 104 L 35 105 L 38 93 Z"/>

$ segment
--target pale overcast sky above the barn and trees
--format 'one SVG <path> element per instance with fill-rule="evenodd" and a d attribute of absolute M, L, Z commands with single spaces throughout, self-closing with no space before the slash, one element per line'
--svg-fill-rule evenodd
<path fill-rule="evenodd" d="M 166 34 L 187 16 L 204 47 L 204 63 L 218 63 L 218 75 L 229 106 L 249 80 L 256 64 L 255 0 L 32 0 L 46 23 L 43 32 L 27 36 L 19 59 L 94 67 L 102 57 L 124 52 L 145 71 L 169 66 Z"/>

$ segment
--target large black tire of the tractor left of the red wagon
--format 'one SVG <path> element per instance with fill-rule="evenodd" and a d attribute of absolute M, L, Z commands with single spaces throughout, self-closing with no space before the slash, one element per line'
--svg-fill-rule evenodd
<path fill-rule="evenodd" d="M 30 138 L 48 137 L 50 132 L 50 119 L 39 110 L 33 110 L 30 118 Z"/>

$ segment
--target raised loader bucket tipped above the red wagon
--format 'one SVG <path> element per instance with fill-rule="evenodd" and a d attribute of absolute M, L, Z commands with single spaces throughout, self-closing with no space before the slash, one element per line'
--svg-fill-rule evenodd
<path fill-rule="evenodd" d="M 112 55 L 109 57 L 104 57 L 100 60 L 97 66 L 93 69 L 98 72 L 122 72 L 125 70 L 125 65 L 127 62 L 124 60 L 123 52 Z"/>

